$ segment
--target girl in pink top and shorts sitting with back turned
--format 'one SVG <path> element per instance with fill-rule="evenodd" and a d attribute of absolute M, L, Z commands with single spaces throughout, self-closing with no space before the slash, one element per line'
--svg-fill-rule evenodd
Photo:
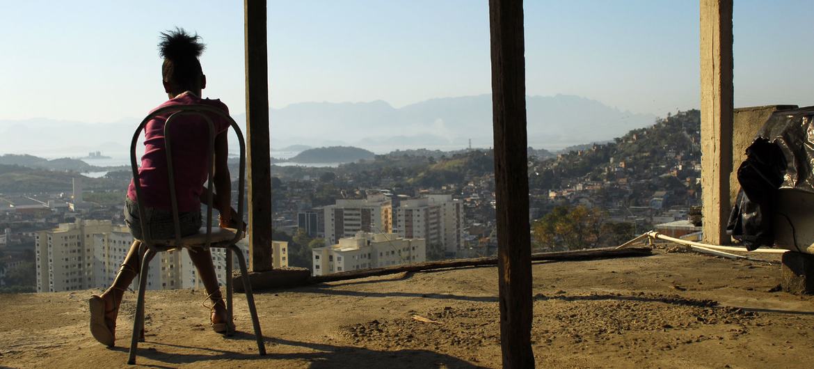
<path fill-rule="evenodd" d="M 173 105 L 205 104 L 221 108 L 228 114 L 224 103 L 218 99 L 202 99 L 201 90 L 206 87 L 206 76 L 201 69 L 199 56 L 204 44 L 199 43 L 197 34 L 190 35 L 183 29 L 161 33 L 160 55 L 164 58 L 161 68 L 164 91 L 169 100 L 153 111 Z M 116 279 L 107 291 L 90 297 L 90 332 L 104 345 L 112 346 L 115 341 L 116 316 L 119 305 L 133 278 L 141 266 L 139 248 L 142 239 L 142 223 L 150 239 L 174 239 L 172 204 L 168 188 L 168 168 L 164 149 L 164 123 L 169 114 L 156 116 L 144 128 L 145 152 L 138 169 L 141 183 L 141 203 L 147 219 L 140 219 L 138 201 L 133 182 L 130 182 L 125 199 L 125 222 L 136 239 L 130 246 L 125 262 L 121 265 Z M 214 178 L 215 194 L 212 207 L 220 213 L 220 226 L 239 222 L 239 217 L 230 207 L 231 182 L 227 167 L 226 130 L 230 123 L 212 114 L 215 125 Z M 202 128 L 203 127 L 203 128 Z M 170 127 L 173 137 L 173 169 L 177 194 L 178 218 L 181 235 L 194 235 L 201 227 L 200 206 L 205 203 L 204 183 L 208 173 L 207 124 L 200 116 L 182 116 Z M 234 219 L 233 219 L 234 217 Z M 234 225 L 233 225 L 234 226 Z M 196 248 L 190 251 L 190 259 L 198 270 L 200 279 L 212 301 L 211 323 L 215 332 L 226 332 L 226 310 L 221 289 L 218 286 L 212 255 L 208 249 Z"/>

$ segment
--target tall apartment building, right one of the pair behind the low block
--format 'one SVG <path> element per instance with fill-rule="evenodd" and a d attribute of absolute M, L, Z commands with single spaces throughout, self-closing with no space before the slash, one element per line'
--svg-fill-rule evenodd
<path fill-rule="evenodd" d="M 400 237 L 421 238 L 426 239 L 427 244 L 441 245 L 449 257 L 454 257 L 464 246 L 463 205 L 452 195 L 401 200 L 396 208 L 396 224 Z"/>

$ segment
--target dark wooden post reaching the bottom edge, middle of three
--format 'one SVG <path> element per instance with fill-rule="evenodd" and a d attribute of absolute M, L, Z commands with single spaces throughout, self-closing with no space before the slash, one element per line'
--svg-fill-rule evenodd
<path fill-rule="evenodd" d="M 497 272 L 504 368 L 534 367 L 523 1 L 489 0 Z"/>

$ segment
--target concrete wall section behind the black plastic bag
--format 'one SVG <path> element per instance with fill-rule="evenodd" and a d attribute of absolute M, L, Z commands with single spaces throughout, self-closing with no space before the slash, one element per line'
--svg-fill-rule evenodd
<path fill-rule="evenodd" d="M 733 116 L 732 173 L 729 174 L 729 204 L 735 205 L 737 191 L 737 167 L 746 160 L 746 147 L 755 140 L 755 134 L 768 121 L 773 112 L 797 108 L 797 105 L 766 105 L 762 107 L 737 108 Z"/>

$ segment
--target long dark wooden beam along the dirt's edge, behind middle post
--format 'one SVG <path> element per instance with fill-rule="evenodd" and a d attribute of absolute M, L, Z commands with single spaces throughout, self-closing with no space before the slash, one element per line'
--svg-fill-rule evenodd
<path fill-rule="evenodd" d="M 557 253 L 534 253 L 532 261 L 580 261 L 609 259 L 615 257 L 646 257 L 652 255 L 649 247 L 641 248 L 593 248 L 587 250 L 562 251 Z M 395 275 L 404 272 L 424 270 L 437 270 L 449 268 L 463 268 L 470 266 L 495 266 L 497 257 L 474 257 L 470 259 L 453 259 L 442 261 L 428 261 L 403 266 L 387 266 L 369 270 L 352 270 L 331 275 L 316 275 L 308 279 L 309 283 L 326 283 L 347 279 L 375 277 L 379 275 Z"/>

